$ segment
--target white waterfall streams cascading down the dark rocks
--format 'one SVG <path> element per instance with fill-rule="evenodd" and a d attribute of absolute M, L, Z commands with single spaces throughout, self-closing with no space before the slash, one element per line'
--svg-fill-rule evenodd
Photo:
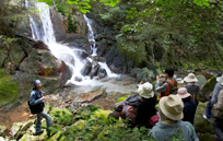
<path fill-rule="evenodd" d="M 32 5 L 28 4 L 26 1 L 26 7 L 31 8 Z M 68 80 L 67 83 L 73 83 L 77 85 L 87 85 L 93 83 L 94 80 L 91 80 L 90 77 L 83 77 L 81 74 L 81 70 L 84 67 L 82 60 L 77 56 L 77 50 L 80 50 L 78 48 L 70 48 L 68 46 L 57 44 L 55 38 L 55 33 L 52 28 L 52 23 L 50 19 L 50 11 L 48 5 L 45 2 L 34 2 L 34 5 L 39 11 L 39 17 L 40 23 L 37 22 L 37 17 L 34 14 L 30 15 L 30 24 L 32 28 L 32 35 L 34 39 L 39 39 L 45 42 L 51 54 L 57 57 L 58 59 L 61 59 L 66 62 L 66 64 L 70 68 L 72 71 L 72 77 L 70 80 Z M 39 19 L 38 17 L 38 19 Z M 96 47 L 95 47 L 95 39 L 94 39 L 94 33 L 92 30 L 92 26 L 90 24 L 91 20 L 89 20 L 85 15 L 84 19 L 87 22 L 87 27 L 90 31 L 89 34 L 89 40 L 93 44 L 93 55 L 96 56 Z M 105 69 L 107 71 L 108 77 L 118 77 L 117 74 L 113 73 L 107 64 L 105 62 L 99 62 L 101 68 Z M 77 79 L 79 81 L 77 81 Z M 80 81 L 81 80 L 81 81 Z"/>

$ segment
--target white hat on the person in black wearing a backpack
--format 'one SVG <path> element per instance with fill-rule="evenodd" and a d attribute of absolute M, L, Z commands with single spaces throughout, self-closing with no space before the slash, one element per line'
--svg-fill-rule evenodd
<path fill-rule="evenodd" d="M 153 85 L 149 82 L 138 85 L 138 93 L 141 97 L 151 98 L 154 96 Z"/>

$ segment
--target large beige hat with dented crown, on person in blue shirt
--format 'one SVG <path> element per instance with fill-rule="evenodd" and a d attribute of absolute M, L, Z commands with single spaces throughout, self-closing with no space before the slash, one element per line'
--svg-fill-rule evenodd
<path fill-rule="evenodd" d="M 178 95 L 164 96 L 160 99 L 159 106 L 162 113 L 172 120 L 180 120 L 184 117 L 184 103 Z"/>

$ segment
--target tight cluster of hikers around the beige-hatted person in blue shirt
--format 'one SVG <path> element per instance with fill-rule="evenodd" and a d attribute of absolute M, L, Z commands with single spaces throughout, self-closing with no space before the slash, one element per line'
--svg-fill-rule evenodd
<path fill-rule="evenodd" d="M 165 82 L 162 83 L 161 79 L 165 78 Z M 195 114 L 198 105 L 198 94 L 200 91 L 199 85 L 197 85 L 197 78 L 193 73 L 189 73 L 184 79 L 184 86 L 178 87 L 178 81 L 174 79 L 174 69 L 166 68 L 162 75 L 156 77 L 155 93 L 159 93 L 159 98 L 154 94 L 153 85 L 149 82 L 138 85 L 138 98 L 133 101 L 139 101 L 139 104 L 131 105 L 129 96 L 126 102 L 120 102 L 115 105 L 115 111 L 111 113 L 108 118 L 115 117 L 118 119 L 129 118 L 130 127 L 141 127 L 145 126 L 152 128 L 149 136 L 159 141 L 172 140 L 173 137 L 178 136 L 185 141 L 199 140 L 193 128 Z M 137 96 L 133 96 L 137 97 Z M 155 105 L 159 101 L 159 111 L 156 111 Z M 121 105 L 121 106 L 120 106 Z M 126 108 L 126 114 L 124 115 L 124 109 Z M 116 110 L 116 107 L 121 107 Z M 132 114 L 133 113 L 133 114 Z M 159 113 L 159 114 L 157 114 Z M 132 116 L 134 115 L 134 116 Z M 150 122 L 151 119 L 157 117 L 159 120 L 155 125 Z M 128 122 L 129 124 L 129 122 Z"/>

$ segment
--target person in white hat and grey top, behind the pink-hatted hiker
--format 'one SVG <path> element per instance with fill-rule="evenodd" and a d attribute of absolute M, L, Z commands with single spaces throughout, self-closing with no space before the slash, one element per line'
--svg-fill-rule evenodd
<path fill-rule="evenodd" d="M 191 94 L 191 98 L 198 105 L 198 94 L 200 92 L 200 86 L 196 84 L 196 82 L 198 82 L 198 79 L 193 73 L 189 73 L 187 77 L 185 77 L 184 81 L 187 83 L 186 85 L 184 85 L 184 87 L 187 89 L 188 93 Z"/>

